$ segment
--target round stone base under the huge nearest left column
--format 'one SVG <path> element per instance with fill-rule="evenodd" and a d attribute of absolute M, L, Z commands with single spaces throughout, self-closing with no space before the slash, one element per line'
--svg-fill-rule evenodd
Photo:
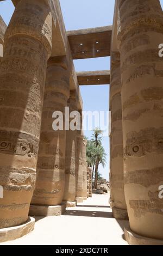
<path fill-rule="evenodd" d="M 10 228 L 1 228 L 0 242 L 14 240 L 24 235 L 27 235 L 28 233 L 34 230 L 34 226 L 35 226 L 35 219 L 32 217 L 28 217 L 27 222 L 21 225 L 18 225 L 16 227 L 10 227 Z"/>

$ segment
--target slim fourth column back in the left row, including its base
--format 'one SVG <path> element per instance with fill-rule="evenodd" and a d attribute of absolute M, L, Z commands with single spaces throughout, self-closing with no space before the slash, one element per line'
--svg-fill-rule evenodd
<path fill-rule="evenodd" d="M 83 130 L 82 130 L 82 111 L 80 113 L 80 130 L 77 131 L 77 190 L 76 201 L 77 203 L 83 202 Z"/>

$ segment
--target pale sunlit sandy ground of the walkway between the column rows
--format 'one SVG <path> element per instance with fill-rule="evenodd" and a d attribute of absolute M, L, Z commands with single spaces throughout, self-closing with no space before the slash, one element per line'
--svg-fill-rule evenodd
<path fill-rule="evenodd" d="M 123 228 L 127 221 L 116 221 L 108 206 L 109 194 L 67 208 L 57 217 L 35 217 L 35 229 L 20 239 L 0 245 L 127 245 Z"/>

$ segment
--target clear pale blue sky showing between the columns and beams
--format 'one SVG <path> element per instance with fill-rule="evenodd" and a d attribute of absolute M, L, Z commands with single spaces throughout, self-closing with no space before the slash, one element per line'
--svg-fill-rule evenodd
<path fill-rule="evenodd" d="M 91 27 L 112 25 L 114 13 L 114 0 L 60 0 L 62 14 L 64 16 L 66 30 L 75 30 Z M 163 0 L 160 1 L 163 7 Z M 0 2 L 0 15 L 9 23 L 14 6 L 11 0 Z M 76 71 L 93 71 L 110 69 L 110 58 L 94 58 L 74 60 Z M 109 85 L 80 87 L 84 111 L 108 111 L 109 109 Z M 87 137 L 91 137 L 91 131 L 85 131 Z M 109 138 L 103 138 L 103 145 L 107 153 L 106 167 L 99 167 L 99 172 L 109 178 Z"/>

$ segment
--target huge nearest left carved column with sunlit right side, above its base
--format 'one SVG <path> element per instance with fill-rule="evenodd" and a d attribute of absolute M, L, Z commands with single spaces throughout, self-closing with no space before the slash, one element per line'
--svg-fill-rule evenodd
<path fill-rule="evenodd" d="M 0 66 L 0 228 L 27 221 L 36 179 L 52 16 L 45 1 L 21 0 L 5 33 Z"/>

